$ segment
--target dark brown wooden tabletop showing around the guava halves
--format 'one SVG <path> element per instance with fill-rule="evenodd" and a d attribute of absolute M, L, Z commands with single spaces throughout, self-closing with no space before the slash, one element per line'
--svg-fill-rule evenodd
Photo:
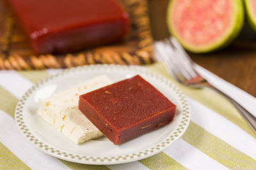
<path fill-rule="evenodd" d="M 169 0 L 149 0 L 154 39 L 169 36 L 166 27 L 166 7 Z M 219 52 L 189 53 L 200 66 L 256 97 L 256 32 L 246 25 L 239 37 Z"/>

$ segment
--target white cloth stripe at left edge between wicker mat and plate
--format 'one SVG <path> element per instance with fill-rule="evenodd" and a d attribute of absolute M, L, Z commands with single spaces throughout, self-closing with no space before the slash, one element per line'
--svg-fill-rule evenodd
<path fill-rule="evenodd" d="M 0 80 L 0 86 L 19 99 L 33 85 L 16 71 L 0 71 Z"/>

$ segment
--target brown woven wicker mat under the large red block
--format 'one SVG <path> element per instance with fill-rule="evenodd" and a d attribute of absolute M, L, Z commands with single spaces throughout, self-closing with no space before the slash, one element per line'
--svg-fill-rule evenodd
<path fill-rule="evenodd" d="M 3 1 L 0 1 L 0 69 L 45 69 L 86 64 L 150 64 L 152 35 L 147 0 L 120 0 L 131 18 L 131 33 L 124 41 L 64 55 L 39 55 L 31 50 Z"/>

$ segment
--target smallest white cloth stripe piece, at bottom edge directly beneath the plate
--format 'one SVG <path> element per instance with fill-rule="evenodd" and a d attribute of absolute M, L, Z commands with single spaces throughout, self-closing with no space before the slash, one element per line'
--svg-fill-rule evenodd
<path fill-rule="evenodd" d="M 117 165 L 113 165 L 113 166 L 106 166 L 109 169 L 112 170 L 135 170 L 135 169 L 140 169 L 140 170 L 148 170 L 148 167 L 143 166 L 143 164 L 141 164 L 138 161 L 135 162 L 131 162 L 131 163 L 127 163 L 127 164 L 117 164 Z"/>

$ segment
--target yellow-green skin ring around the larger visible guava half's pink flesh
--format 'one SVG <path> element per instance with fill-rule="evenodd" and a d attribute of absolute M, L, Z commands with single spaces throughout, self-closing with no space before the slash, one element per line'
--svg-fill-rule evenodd
<path fill-rule="evenodd" d="M 186 40 L 179 37 L 179 35 L 175 32 L 175 28 L 172 24 L 172 8 L 177 0 L 171 0 L 168 4 L 167 8 L 167 16 L 166 22 L 168 25 L 168 30 L 172 36 L 178 39 L 180 44 L 189 52 L 193 53 L 207 53 L 216 50 L 220 50 L 228 46 L 232 41 L 238 36 L 239 32 L 241 31 L 243 24 L 244 24 L 244 8 L 243 8 L 243 1 L 242 0 L 231 0 L 234 5 L 234 22 L 230 25 L 230 30 L 222 35 L 222 38 L 218 39 L 215 43 L 211 45 L 205 46 L 193 46 L 191 43 L 186 43 Z"/>

